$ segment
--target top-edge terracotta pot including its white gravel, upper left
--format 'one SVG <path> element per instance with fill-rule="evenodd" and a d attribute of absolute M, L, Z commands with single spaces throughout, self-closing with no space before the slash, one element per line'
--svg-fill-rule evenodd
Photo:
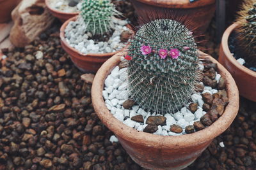
<path fill-rule="evenodd" d="M 61 22 L 75 17 L 81 10 L 81 0 L 45 0 L 45 4 L 50 13 Z"/>

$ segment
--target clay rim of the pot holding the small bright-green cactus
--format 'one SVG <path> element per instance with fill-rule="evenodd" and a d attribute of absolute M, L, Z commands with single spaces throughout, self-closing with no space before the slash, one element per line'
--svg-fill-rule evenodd
<path fill-rule="evenodd" d="M 62 41 L 62 43 L 67 46 L 67 48 L 69 48 L 69 50 L 73 51 L 73 52 L 76 52 L 79 54 L 79 57 L 77 56 L 77 58 L 81 59 L 81 60 L 86 60 L 85 57 L 98 57 L 100 59 L 102 58 L 105 58 L 105 57 L 109 57 L 109 56 L 113 56 L 115 55 L 116 53 L 120 52 L 120 50 L 116 51 L 116 52 L 111 52 L 111 53 L 88 53 L 86 55 L 84 55 L 83 53 L 79 52 L 78 50 L 76 50 L 75 48 L 73 48 L 72 46 L 70 46 L 66 39 L 65 39 L 65 28 L 67 27 L 68 23 L 70 21 L 74 21 L 77 19 L 77 17 L 79 17 L 78 15 L 75 16 L 75 17 L 72 17 L 70 19 L 68 19 L 67 21 L 65 21 L 63 23 L 63 25 L 61 25 L 61 28 L 60 28 L 60 39 Z"/>

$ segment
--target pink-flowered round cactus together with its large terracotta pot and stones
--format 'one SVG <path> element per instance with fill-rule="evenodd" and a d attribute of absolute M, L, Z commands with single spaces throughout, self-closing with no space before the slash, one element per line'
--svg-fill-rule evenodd
<path fill-rule="evenodd" d="M 100 67 L 92 103 L 140 166 L 182 169 L 229 127 L 239 95 L 230 73 L 197 50 L 185 25 L 159 18 Z"/>

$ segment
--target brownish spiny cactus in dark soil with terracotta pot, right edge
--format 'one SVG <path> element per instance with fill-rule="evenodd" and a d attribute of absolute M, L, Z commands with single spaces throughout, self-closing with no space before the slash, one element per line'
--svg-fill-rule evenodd
<path fill-rule="evenodd" d="M 256 101 L 255 1 L 246 1 L 237 22 L 224 32 L 219 61 L 236 80 L 241 96 Z M 239 63 L 240 62 L 240 63 Z"/>

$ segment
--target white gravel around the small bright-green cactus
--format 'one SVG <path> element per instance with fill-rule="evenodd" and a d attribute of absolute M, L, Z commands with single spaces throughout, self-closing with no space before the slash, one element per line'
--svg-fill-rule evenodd
<path fill-rule="evenodd" d="M 65 39 L 67 43 L 76 48 L 79 52 L 84 55 L 87 53 L 109 53 L 116 52 L 124 47 L 124 44 L 120 43 L 120 36 L 123 31 L 127 31 L 128 28 L 126 20 L 118 20 L 113 18 L 115 31 L 107 42 L 100 41 L 96 43 L 90 32 L 86 32 L 86 25 L 83 22 L 83 18 L 80 16 L 76 21 L 68 23 L 65 29 Z"/>

